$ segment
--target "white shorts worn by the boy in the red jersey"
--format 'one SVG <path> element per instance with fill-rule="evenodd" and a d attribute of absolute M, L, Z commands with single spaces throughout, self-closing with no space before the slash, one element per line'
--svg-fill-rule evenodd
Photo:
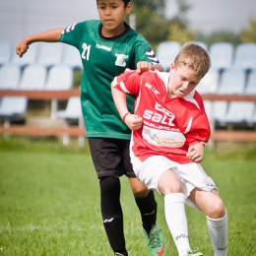
<path fill-rule="evenodd" d="M 183 191 L 186 197 L 186 203 L 201 211 L 200 208 L 188 199 L 190 192 L 194 188 L 199 188 L 203 191 L 211 191 L 217 189 L 214 180 L 209 177 L 201 164 L 199 163 L 183 163 L 169 160 L 162 156 L 150 157 L 145 161 L 138 158 L 132 158 L 133 169 L 138 179 L 145 184 L 149 189 L 153 189 L 160 193 L 159 178 L 160 175 L 167 169 L 172 171 L 180 178 Z"/>

